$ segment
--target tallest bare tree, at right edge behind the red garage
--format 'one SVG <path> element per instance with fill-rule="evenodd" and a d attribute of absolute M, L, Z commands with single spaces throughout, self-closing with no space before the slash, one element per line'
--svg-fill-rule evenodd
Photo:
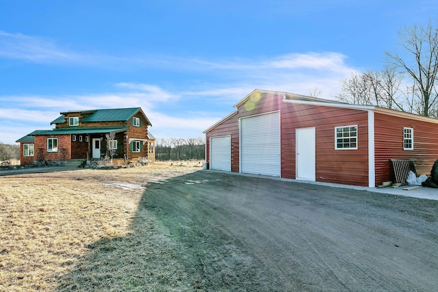
<path fill-rule="evenodd" d="M 385 52 L 387 62 L 413 79 L 420 93 L 420 101 L 416 103 L 417 114 L 430 116 L 430 109 L 437 107 L 435 80 L 438 73 L 438 30 L 429 22 L 426 27 L 404 27 L 398 36 L 401 52 Z"/>

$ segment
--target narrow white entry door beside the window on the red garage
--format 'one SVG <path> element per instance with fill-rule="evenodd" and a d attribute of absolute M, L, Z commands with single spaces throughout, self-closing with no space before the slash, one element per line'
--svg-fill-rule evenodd
<path fill-rule="evenodd" d="M 315 181 L 315 128 L 296 129 L 296 179 Z"/>

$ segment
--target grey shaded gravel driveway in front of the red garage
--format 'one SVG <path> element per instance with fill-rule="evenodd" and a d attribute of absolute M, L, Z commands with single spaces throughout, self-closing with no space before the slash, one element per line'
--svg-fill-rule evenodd
<path fill-rule="evenodd" d="M 205 291 L 437 291 L 438 201 L 200 171 L 141 207 Z"/>

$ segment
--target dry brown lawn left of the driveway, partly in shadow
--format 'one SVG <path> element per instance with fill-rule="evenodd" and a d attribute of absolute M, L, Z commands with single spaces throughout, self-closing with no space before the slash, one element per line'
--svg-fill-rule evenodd
<path fill-rule="evenodd" d="M 199 163 L 0 177 L 0 291 L 188 289 L 179 246 L 138 211 L 147 182 Z"/>

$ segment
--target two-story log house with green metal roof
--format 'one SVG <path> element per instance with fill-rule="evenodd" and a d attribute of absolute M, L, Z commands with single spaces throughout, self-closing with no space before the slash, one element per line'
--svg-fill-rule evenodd
<path fill-rule="evenodd" d="M 115 150 L 114 159 L 135 159 L 154 153 L 151 122 L 140 107 L 66 111 L 51 122 L 55 129 L 37 130 L 17 140 L 21 165 L 38 160 L 101 159 Z M 114 140 L 106 134 L 114 133 Z M 155 157 L 154 157 L 155 158 Z"/>

